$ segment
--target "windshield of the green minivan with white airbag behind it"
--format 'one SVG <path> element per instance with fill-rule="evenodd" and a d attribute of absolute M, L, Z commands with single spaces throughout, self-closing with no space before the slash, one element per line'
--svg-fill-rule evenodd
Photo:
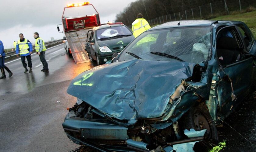
<path fill-rule="evenodd" d="M 97 40 L 105 40 L 114 37 L 132 36 L 133 33 L 126 26 L 114 26 L 105 29 L 98 29 Z"/>

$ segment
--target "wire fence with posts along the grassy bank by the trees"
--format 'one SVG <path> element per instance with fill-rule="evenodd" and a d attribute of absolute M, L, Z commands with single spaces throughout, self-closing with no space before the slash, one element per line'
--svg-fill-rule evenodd
<path fill-rule="evenodd" d="M 148 22 L 150 25 L 155 25 L 170 21 L 180 21 L 182 16 L 182 20 L 211 19 L 221 15 L 247 12 L 250 7 L 256 7 L 256 0 L 221 0 L 173 14 L 159 16 L 148 20 Z"/>

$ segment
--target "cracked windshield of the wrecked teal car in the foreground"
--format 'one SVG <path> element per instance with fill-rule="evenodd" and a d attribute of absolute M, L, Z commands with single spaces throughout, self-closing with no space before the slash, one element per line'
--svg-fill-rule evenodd
<path fill-rule="evenodd" d="M 211 47 L 212 26 L 160 29 L 142 33 L 118 60 L 135 59 L 136 55 L 143 60 L 201 63 L 207 59 Z"/>

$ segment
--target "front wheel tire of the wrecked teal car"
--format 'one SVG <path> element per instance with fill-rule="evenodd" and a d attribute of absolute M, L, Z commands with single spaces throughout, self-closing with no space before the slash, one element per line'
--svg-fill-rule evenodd
<path fill-rule="evenodd" d="M 204 103 L 191 107 L 179 122 L 182 130 L 194 129 L 200 131 L 207 129 L 204 134 L 204 140 L 195 144 L 194 151 L 208 151 L 218 144 L 219 136 L 216 125 Z"/>

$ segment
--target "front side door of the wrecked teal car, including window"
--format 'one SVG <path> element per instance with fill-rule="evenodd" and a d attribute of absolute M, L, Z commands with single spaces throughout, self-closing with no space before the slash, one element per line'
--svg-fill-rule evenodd
<path fill-rule="evenodd" d="M 233 111 L 252 83 L 253 58 L 244 43 L 236 26 L 222 28 L 217 34 L 219 117 L 226 117 Z"/>

